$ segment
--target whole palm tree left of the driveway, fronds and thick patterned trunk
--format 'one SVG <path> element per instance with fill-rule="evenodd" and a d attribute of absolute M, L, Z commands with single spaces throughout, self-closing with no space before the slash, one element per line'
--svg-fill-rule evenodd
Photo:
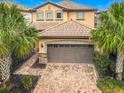
<path fill-rule="evenodd" d="M 10 76 L 12 54 L 24 58 L 37 40 L 36 30 L 27 26 L 16 5 L 0 4 L 0 81 Z"/>

